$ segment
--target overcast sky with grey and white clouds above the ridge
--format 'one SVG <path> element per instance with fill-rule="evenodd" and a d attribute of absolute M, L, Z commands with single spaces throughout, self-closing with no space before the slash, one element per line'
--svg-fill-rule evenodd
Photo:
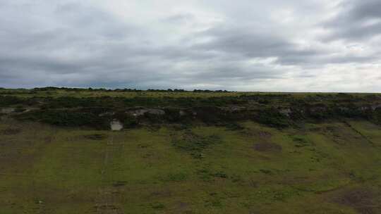
<path fill-rule="evenodd" d="M 380 0 L 0 0 L 0 87 L 381 92 Z"/>

